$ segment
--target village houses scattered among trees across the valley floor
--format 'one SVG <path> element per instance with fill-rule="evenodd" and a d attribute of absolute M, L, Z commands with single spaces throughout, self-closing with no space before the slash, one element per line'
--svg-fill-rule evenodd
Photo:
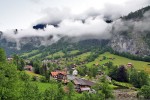
<path fill-rule="evenodd" d="M 114 60 L 115 58 L 105 58 L 105 59 L 109 59 L 109 60 Z M 13 58 L 8 58 L 8 61 L 11 62 L 13 60 Z M 101 59 L 100 61 L 102 61 L 104 59 Z M 26 60 L 26 63 L 29 63 L 30 60 Z M 47 65 L 48 63 L 52 63 L 52 64 L 56 64 L 56 65 L 60 65 L 62 64 L 60 60 L 43 60 L 42 61 L 43 65 Z M 97 83 L 97 79 L 99 79 L 100 77 L 105 76 L 105 78 L 107 79 L 108 82 L 111 82 L 111 77 L 109 77 L 108 75 L 105 74 L 105 72 L 103 72 L 102 70 L 99 70 L 98 73 L 96 74 L 96 79 L 87 79 L 85 77 L 81 77 L 79 75 L 79 72 L 77 70 L 77 67 L 79 65 L 85 64 L 86 62 L 81 62 L 78 65 L 77 64 L 72 64 L 71 68 L 63 68 L 63 69 L 55 69 L 52 70 L 51 72 L 49 72 L 49 79 L 50 80 L 56 80 L 58 83 L 62 83 L 64 85 L 67 85 L 69 82 L 72 82 L 74 85 L 74 90 L 78 93 L 87 91 L 89 93 L 95 93 L 96 91 L 92 88 L 96 83 Z M 102 66 L 106 66 L 108 63 L 103 64 Z M 97 67 L 99 66 L 98 63 L 93 64 L 93 66 Z M 131 68 L 133 67 L 132 63 L 128 63 L 126 65 L 126 68 Z M 29 71 L 32 73 L 35 73 L 35 69 L 32 65 L 25 65 L 23 68 L 25 71 Z M 46 70 L 50 70 L 49 67 L 46 67 Z M 88 76 L 88 75 L 85 75 Z M 38 78 L 38 77 L 36 77 Z"/>

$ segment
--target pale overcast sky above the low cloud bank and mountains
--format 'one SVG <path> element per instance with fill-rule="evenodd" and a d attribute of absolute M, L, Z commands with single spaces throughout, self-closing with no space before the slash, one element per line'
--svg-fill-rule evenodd
<path fill-rule="evenodd" d="M 150 0 L 0 0 L 0 31 L 28 29 L 38 22 L 81 18 L 93 12 L 111 13 L 115 18 L 149 4 Z"/>

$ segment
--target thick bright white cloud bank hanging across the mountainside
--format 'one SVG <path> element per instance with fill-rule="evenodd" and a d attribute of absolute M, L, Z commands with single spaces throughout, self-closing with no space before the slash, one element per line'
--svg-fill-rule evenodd
<path fill-rule="evenodd" d="M 14 34 L 14 31 L 8 30 L 4 32 L 4 34 L 6 37 L 16 39 L 31 36 L 44 37 L 49 35 L 61 35 L 69 37 L 92 36 L 92 38 L 97 39 L 108 39 L 110 38 L 110 27 L 111 24 L 107 24 L 101 18 L 101 16 L 98 16 L 96 18 L 88 18 L 84 21 L 84 23 L 81 20 L 66 19 L 61 21 L 58 24 L 58 27 L 47 25 L 44 30 L 34 30 L 30 28 L 17 30 L 16 34 Z"/>

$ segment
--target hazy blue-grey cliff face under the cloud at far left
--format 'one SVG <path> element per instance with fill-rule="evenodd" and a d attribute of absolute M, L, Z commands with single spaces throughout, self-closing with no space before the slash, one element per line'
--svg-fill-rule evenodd
<path fill-rule="evenodd" d="M 48 46 L 56 42 L 56 40 L 53 39 L 53 36 L 30 36 L 17 39 L 3 35 L 3 32 L 0 33 L 0 47 L 4 48 L 8 55 Z"/>

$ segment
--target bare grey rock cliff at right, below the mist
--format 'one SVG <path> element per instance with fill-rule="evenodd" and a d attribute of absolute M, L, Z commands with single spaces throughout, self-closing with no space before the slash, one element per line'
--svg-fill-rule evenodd
<path fill-rule="evenodd" d="M 129 52 L 139 56 L 150 54 L 150 48 L 140 33 L 132 33 L 130 37 L 113 33 L 109 45 L 118 52 Z"/>

